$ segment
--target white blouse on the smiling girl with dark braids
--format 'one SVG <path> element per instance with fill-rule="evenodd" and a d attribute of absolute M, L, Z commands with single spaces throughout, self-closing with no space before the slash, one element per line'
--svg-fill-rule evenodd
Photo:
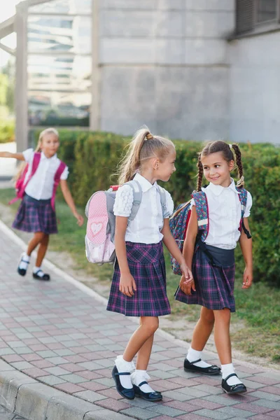
<path fill-rule="evenodd" d="M 223 249 L 233 249 L 240 237 L 239 224 L 241 219 L 241 204 L 235 181 L 228 188 L 209 183 L 202 191 L 207 196 L 209 208 L 209 232 L 206 244 Z M 192 200 L 191 206 L 195 205 Z M 252 196 L 248 192 L 244 217 L 250 216 Z"/>

